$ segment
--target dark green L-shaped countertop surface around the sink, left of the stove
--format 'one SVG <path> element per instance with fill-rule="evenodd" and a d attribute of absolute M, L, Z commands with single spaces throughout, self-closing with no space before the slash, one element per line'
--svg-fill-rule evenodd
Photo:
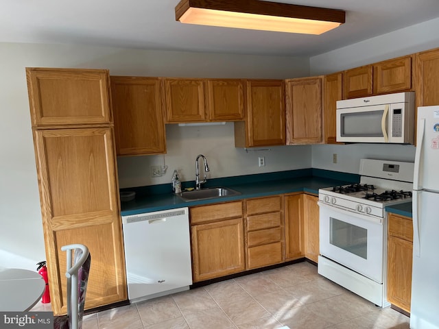
<path fill-rule="evenodd" d="M 137 195 L 136 199 L 130 202 L 121 202 L 121 215 L 136 215 L 144 212 L 199 206 L 203 204 L 214 204 L 217 202 L 229 202 L 240 199 L 248 199 L 251 197 L 265 197 L 268 195 L 294 192 L 305 192 L 318 195 L 319 188 L 338 186 L 354 181 L 340 180 L 340 178 L 343 177 L 340 177 L 340 175 L 337 174 L 331 175 L 328 174 L 328 172 L 325 172 L 324 174 L 325 177 L 312 175 L 312 173 L 311 175 L 305 175 L 302 177 L 287 177 L 288 175 L 285 175 L 285 179 L 271 179 L 260 182 L 255 182 L 254 180 L 252 182 L 243 182 L 243 180 L 240 179 L 236 180 L 237 184 L 233 184 L 233 182 L 227 180 L 227 184 L 218 184 L 216 186 L 232 188 L 233 190 L 240 192 L 240 195 L 217 197 L 214 199 L 204 199 L 193 202 L 185 202 L 183 199 L 177 195 L 174 195 L 173 193 Z"/>

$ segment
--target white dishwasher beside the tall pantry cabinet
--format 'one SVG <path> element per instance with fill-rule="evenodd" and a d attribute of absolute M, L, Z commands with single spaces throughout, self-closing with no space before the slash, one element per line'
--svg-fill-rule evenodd
<path fill-rule="evenodd" d="M 122 216 L 122 224 L 130 302 L 189 289 L 188 208 Z"/>

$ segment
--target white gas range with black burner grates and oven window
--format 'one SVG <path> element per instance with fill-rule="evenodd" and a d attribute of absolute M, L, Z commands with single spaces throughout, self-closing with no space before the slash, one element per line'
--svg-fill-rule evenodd
<path fill-rule="evenodd" d="M 359 184 L 319 190 L 318 273 L 378 306 L 385 297 L 385 207 L 412 198 L 414 164 L 361 159 Z"/>

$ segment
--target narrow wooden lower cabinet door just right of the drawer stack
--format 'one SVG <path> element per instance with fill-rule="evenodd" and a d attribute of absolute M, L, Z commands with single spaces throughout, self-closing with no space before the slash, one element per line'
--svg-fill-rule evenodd
<path fill-rule="evenodd" d="M 305 257 L 303 194 L 285 196 L 285 260 Z"/>

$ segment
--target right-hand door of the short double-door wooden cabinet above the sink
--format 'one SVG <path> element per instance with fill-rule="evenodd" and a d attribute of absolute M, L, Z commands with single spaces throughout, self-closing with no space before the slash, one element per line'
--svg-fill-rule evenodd
<path fill-rule="evenodd" d="M 207 81 L 210 121 L 244 120 L 244 86 L 242 80 Z"/>

